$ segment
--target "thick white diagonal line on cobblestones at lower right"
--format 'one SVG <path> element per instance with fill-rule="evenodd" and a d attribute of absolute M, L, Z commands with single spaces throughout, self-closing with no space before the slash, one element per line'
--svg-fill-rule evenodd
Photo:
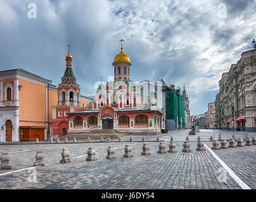
<path fill-rule="evenodd" d="M 203 143 L 205 145 L 205 143 Z M 208 148 L 207 145 L 205 145 L 205 148 L 207 148 L 208 151 L 210 151 L 210 153 L 214 156 L 214 158 L 216 158 L 216 160 L 222 165 L 222 167 L 224 167 L 224 169 L 229 173 L 229 175 L 239 184 L 239 186 L 242 189 L 250 189 L 250 187 L 245 184 L 245 182 L 243 182 L 238 175 L 236 175 L 233 170 L 231 170 L 226 163 L 224 163 L 221 158 L 219 158 L 214 151 L 212 151 L 210 148 Z"/>

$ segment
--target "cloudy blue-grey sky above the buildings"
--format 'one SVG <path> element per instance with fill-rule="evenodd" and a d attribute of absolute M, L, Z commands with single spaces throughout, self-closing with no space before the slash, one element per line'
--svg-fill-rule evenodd
<path fill-rule="evenodd" d="M 202 114 L 222 73 L 252 49 L 255 1 L 0 0 L 0 71 L 23 68 L 58 85 L 71 44 L 81 95 L 94 95 L 124 39 L 131 80 L 185 86 L 191 115 Z"/>

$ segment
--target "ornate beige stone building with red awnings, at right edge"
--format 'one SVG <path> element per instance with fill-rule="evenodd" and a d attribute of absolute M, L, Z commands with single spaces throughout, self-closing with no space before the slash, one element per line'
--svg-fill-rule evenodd
<path fill-rule="evenodd" d="M 219 81 L 215 98 L 217 128 L 255 131 L 256 49 L 241 54 Z"/>

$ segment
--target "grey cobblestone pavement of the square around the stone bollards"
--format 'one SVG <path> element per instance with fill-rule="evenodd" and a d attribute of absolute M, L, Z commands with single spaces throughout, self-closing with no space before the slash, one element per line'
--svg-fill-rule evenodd
<path fill-rule="evenodd" d="M 217 131 L 215 131 L 217 132 Z M 1 145 L 0 152 L 8 151 L 12 168 L 0 170 L 1 189 L 241 189 L 238 182 L 227 174 L 227 181 L 219 181 L 221 164 L 208 151 L 196 151 L 197 136 L 212 148 L 208 141 L 215 133 L 200 130 L 189 136 L 191 153 L 182 152 L 182 141 L 188 130 L 172 131 L 158 136 L 144 136 L 150 146 L 151 155 L 141 155 L 142 136 L 132 136 L 134 142 L 112 143 L 69 143 L 39 145 Z M 224 131 L 222 138 L 229 139 L 232 134 L 243 137 L 243 132 Z M 170 136 L 176 141 L 177 153 L 157 153 L 156 138 L 165 141 L 166 150 Z M 248 136 L 256 136 L 248 133 Z M 130 136 L 122 138 L 129 140 Z M 215 136 L 217 139 L 218 136 Z M 117 159 L 106 160 L 108 145 L 115 148 Z M 134 157 L 124 158 L 124 146 L 132 146 Z M 96 162 L 86 162 L 89 146 L 96 149 Z M 71 163 L 60 163 L 61 151 L 68 148 Z M 35 153 L 42 150 L 44 167 L 34 167 Z M 256 189 L 256 146 L 213 150 L 214 153 L 240 177 L 251 189 Z M 20 170 L 26 169 L 26 170 Z M 18 172 L 13 172 L 20 170 Z M 11 173 L 9 173 L 11 172 Z M 35 175 L 34 175 L 35 174 Z M 222 173 L 223 174 L 223 173 Z M 36 182 L 31 181 L 36 176 Z"/>

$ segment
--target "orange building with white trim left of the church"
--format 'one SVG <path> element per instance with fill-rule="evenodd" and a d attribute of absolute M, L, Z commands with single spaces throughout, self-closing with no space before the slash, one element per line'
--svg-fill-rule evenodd
<path fill-rule="evenodd" d="M 24 69 L 0 71 L 0 141 L 46 140 L 58 100 L 48 79 Z M 80 96 L 79 105 L 90 101 Z"/>

